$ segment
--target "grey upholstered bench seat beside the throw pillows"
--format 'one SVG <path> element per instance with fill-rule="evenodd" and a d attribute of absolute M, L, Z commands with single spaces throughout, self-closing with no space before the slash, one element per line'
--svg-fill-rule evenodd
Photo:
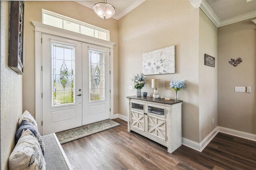
<path fill-rule="evenodd" d="M 44 135 L 42 139 L 45 145 L 44 159 L 46 170 L 72 169 L 55 133 Z"/>

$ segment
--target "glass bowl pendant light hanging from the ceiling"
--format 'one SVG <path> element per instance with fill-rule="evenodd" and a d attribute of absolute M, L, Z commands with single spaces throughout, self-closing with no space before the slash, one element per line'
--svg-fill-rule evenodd
<path fill-rule="evenodd" d="M 116 12 L 115 7 L 108 4 L 106 0 L 95 4 L 93 10 L 100 18 L 103 18 L 104 20 L 112 17 Z"/>

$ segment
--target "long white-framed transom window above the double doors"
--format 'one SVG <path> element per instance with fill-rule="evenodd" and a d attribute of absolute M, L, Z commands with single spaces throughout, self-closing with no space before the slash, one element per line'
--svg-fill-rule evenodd
<path fill-rule="evenodd" d="M 109 41 L 109 31 L 92 26 L 85 22 L 75 20 L 48 10 L 42 9 L 42 23 L 64 30 L 76 32 L 86 36 Z"/>

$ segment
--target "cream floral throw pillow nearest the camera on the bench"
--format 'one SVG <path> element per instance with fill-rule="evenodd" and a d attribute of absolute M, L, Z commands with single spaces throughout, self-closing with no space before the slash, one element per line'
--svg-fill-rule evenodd
<path fill-rule="evenodd" d="M 34 134 L 24 130 L 9 157 L 9 170 L 45 170 L 45 160 Z"/>

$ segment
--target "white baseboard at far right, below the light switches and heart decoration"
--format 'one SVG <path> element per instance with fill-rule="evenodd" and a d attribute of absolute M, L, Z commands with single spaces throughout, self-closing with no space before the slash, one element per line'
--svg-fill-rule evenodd
<path fill-rule="evenodd" d="M 234 130 L 231 128 L 225 128 L 225 127 L 220 127 L 220 126 L 219 126 L 219 132 L 230 134 L 230 135 L 237 136 L 240 138 L 245 138 L 248 140 L 256 141 L 256 134 L 252 134 L 252 133 L 242 132 L 239 130 Z"/>

